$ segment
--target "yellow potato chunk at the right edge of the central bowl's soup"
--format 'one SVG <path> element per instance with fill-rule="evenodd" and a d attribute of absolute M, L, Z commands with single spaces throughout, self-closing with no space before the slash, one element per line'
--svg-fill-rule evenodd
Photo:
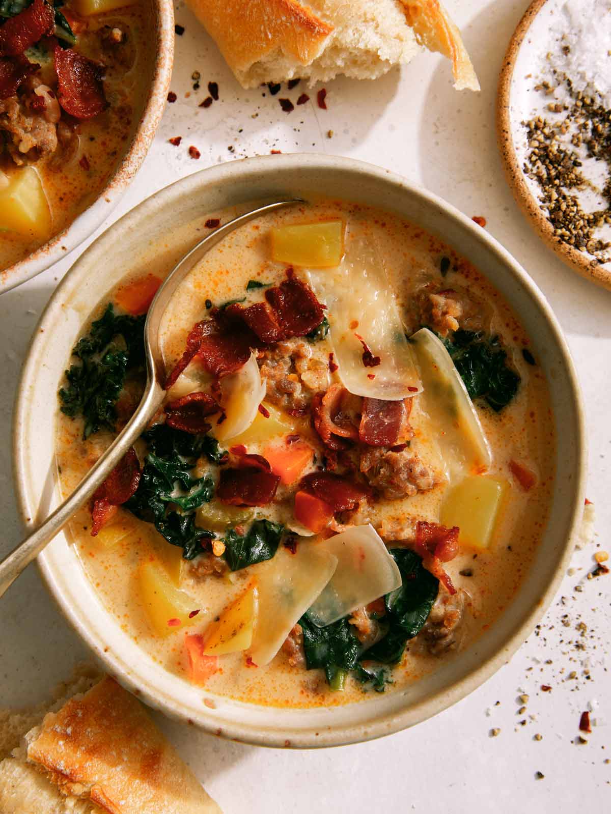
<path fill-rule="evenodd" d="M 442 505 L 443 525 L 458 526 L 462 544 L 488 548 L 507 488 L 506 480 L 470 475 L 447 493 Z"/>

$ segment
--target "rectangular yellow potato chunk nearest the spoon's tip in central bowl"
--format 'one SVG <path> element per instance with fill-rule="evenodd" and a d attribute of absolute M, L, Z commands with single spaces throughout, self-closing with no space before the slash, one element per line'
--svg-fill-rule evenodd
<path fill-rule="evenodd" d="M 271 230 L 271 256 L 282 263 L 326 269 L 339 265 L 343 254 L 343 221 L 278 226 Z"/>

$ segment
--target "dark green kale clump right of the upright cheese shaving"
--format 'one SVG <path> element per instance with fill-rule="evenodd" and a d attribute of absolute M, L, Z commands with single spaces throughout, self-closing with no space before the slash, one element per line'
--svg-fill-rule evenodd
<path fill-rule="evenodd" d="M 457 330 L 444 344 L 472 399 L 484 399 L 497 413 L 509 404 L 520 376 L 508 366 L 498 336 Z"/>

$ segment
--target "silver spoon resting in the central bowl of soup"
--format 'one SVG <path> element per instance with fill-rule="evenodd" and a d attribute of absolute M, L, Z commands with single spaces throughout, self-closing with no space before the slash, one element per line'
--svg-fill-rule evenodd
<path fill-rule="evenodd" d="M 142 435 L 147 428 L 157 410 L 160 408 L 165 390 L 163 382 L 165 380 L 165 365 L 161 357 L 159 347 L 159 329 L 161 318 L 169 305 L 169 301 L 174 296 L 181 282 L 196 265 L 199 260 L 213 246 L 219 243 L 227 234 L 238 229 L 240 226 L 253 221 L 256 217 L 261 217 L 269 212 L 275 212 L 292 204 L 302 204 L 299 198 L 275 201 L 273 204 L 244 212 L 244 215 L 235 217 L 225 225 L 209 234 L 200 243 L 197 243 L 187 255 L 174 267 L 165 278 L 155 299 L 152 301 L 147 313 L 147 321 L 144 323 L 144 351 L 147 358 L 147 383 L 144 388 L 144 395 L 138 409 L 125 425 L 124 429 L 116 436 L 116 439 L 108 447 L 102 457 L 95 463 L 87 475 L 81 480 L 72 495 L 55 509 L 53 514 L 38 527 L 35 532 L 22 540 L 15 549 L 0 562 L 0 597 L 8 587 L 17 579 L 21 571 L 35 559 L 47 543 L 61 531 L 74 514 L 93 495 L 95 490 L 108 478 L 121 458 L 130 449 L 134 441 Z"/>

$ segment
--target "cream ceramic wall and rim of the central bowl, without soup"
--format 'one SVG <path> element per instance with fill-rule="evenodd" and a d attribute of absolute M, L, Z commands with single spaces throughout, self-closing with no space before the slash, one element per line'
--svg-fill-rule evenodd
<path fill-rule="evenodd" d="M 177 248 L 164 235 L 209 212 L 268 196 L 314 191 L 397 212 L 468 257 L 520 316 L 543 368 L 557 435 L 552 506 L 534 563 L 515 597 L 468 649 L 401 692 L 369 693 L 363 702 L 309 709 L 210 698 L 165 670 L 114 619 L 86 577 L 73 545 L 60 534 L 38 558 L 48 589 L 66 619 L 112 675 L 153 707 L 202 729 L 266 746 L 332 746 L 360 742 L 416 724 L 464 698 L 507 663 L 552 598 L 578 532 L 584 502 L 586 449 L 574 365 L 547 301 L 524 269 L 480 226 L 436 195 L 386 170 L 322 155 L 277 155 L 206 169 L 161 190 L 95 241 L 64 278 L 34 334 L 15 410 L 15 477 L 20 511 L 33 527 L 57 504 L 56 392 L 71 348 L 95 305 L 134 258 L 151 252 L 174 265 Z M 190 242 L 200 234 L 195 230 Z M 108 259 L 112 258 L 112 263 Z M 107 273 L 97 274 L 100 263 Z M 53 354 L 48 348 L 52 344 Z M 19 590 L 19 584 L 14 590 Z"/>

